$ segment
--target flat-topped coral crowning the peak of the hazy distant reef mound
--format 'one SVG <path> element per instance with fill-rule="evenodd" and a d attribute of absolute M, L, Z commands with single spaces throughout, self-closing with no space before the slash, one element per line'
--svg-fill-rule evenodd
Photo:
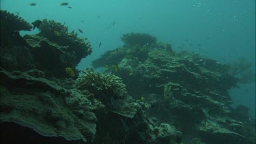
<path fill-rule="evenodd" d="M 123 34 L 121 40 L 126 45 L 139 45 L 156 43 L 156 37 L 153 37 L 146 33 L 126 33 Z"/>

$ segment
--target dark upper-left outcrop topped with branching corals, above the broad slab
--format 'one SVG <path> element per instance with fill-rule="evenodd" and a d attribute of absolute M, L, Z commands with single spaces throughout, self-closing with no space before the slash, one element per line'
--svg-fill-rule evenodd
<path fill-rule="evenodd" d="M 92 52 L 89 42 L 68 32 L 68 27 L 54 20 L 42 20 L 40 33 L 20 36 L 19 31 L 30 30 L 22 18 L 1 11 L 1 66 L 5 70 L 42 70 L 46 76 L 70 77 L 66 68 L 78 76 L 77 64 Z M 54 31 L 59 31 L 56 35 Z"/>

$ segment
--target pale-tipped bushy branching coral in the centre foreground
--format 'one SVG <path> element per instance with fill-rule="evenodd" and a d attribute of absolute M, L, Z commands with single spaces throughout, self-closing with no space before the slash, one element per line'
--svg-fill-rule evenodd
<path fill-rule="evenodd" d="M 126 96 L 126 88 L 118 76 L 113 74 L 100 74 L 94 68 L 85 68 L 83 74 L 77 78 L 77 87 L 87 89 L 95 95 Z"/>

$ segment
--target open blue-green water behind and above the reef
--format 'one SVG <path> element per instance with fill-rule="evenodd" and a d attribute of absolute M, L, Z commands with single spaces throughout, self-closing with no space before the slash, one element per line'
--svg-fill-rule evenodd
<path fill-rule="evenodd" d="M 62 2 L 69 5 L 61 6 Z M 47 18 L 78 33 L 83 30 L 79 37 L 88 38 L 93 53 L 81 61 L 79 69 L 122 46 L 120 36 L 130 32 L 149 33 L 171 43 L 175 50 L 195 51 L 222 63 L 245 57 L 255 69 L 253 0 L 1 0 L 1 10 L 18 12 L 29 23 Z M 230 93 L 234 106 L 248 106 L 255 117 L 255 83 L 240 85 Z"/>

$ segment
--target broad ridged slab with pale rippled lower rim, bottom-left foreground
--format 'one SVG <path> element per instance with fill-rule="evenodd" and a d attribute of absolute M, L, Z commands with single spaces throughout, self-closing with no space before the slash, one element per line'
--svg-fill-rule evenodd
<path fill-rule="evenodd" d="M 68 109 L 66 89 L 25 72 L 1 71 L 0 75 L 1 123 L 12 121 L 42 136 L 62 136 L 68 141 L 94 139 L 95 121 L 79 119 Z"/>

